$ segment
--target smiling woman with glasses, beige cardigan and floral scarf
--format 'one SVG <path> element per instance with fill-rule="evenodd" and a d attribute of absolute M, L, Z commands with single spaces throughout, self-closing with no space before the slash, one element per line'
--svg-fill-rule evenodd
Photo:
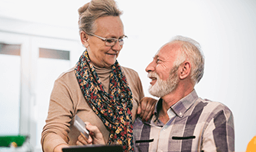
<path fill-rule="evenodd" d="M 54 83 L 41 138 L 44 151 L 82 144 L 73 126 L 76 115 L 96 125 L 105 143 L 133 150 L 132 123 L 144 92 L 138 73 L 116 60 L 127 38 L 121 14 L 112 0 L 92 0 L 79 8 L 80 39 L 86 51 Z M 143 102 L 154 107 L 153 99 Z"/>

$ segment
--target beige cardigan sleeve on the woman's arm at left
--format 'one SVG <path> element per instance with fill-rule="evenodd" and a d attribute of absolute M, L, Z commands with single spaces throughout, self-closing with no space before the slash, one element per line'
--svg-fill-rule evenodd
<path fill-rule="evenodd" d="M 69 88 L 64 81 L 57 79 L 50 95 L 48 116 L 42 131 L 41 144 L 44 151 L 52 152 L 57 145 L 68 144 L 73 107 Z"/>

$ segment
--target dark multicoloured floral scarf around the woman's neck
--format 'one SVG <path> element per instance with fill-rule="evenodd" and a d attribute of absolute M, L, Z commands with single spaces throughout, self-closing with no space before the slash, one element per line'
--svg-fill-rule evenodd
<path fill-rule="evenodd" d="M 108 144 L 121 144 L 133 151 L 132 94 L 121 66 L 116 61 L 110 73 L 109 93 L 105 92 L 87 50 L 76 63 L 76 78 L 86 101 L 109 128 Z"/>

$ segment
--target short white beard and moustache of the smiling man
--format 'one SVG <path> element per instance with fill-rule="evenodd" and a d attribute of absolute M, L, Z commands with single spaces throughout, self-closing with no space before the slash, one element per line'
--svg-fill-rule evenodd
<path fill-rule="evenodd" d="M 154 97 L 164 97 L 176 89 L 179 78 L 177 77 L 177 70 L 172 69 L 169 78 L 163 81 L 155 72 L 150 72 L 147 77 L 157 78 L 157 82 L 148 88 L 148 92 Z"/>

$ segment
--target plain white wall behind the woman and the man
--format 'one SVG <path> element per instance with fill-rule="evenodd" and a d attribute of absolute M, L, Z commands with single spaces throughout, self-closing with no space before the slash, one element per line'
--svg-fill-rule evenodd
<path fill-rule="evenodd" d="M 0 16 L 76 29 L 77 9 L 86 2 L 0 0 Z M 128 35 L 118 62 L 138 71 L 146 96 L 150 96 L 149 79 L 144 68 L 160 46 L 177 34 L 197 40 L 206 56 L 206 69 L 196 90 L 200 97 L 232 109 L 235 151 L 245 151 L 248 141 L 256 135 L 256 1 L 117 2 L 124 11 L 122 21 Z"/>

